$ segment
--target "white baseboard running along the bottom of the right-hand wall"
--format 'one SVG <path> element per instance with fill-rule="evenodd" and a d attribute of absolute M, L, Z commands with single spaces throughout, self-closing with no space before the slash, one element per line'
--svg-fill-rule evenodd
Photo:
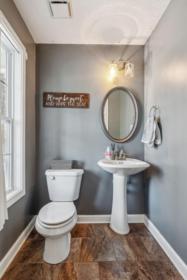
<path fill-rule="evenodd" d="M 146 215 L 144 216 L 144 223 L 150 231 L 150 233 L 154 236 L 158 244 L 165 251 L 166 255 L 174 264 L 176 269 L 179 271 L 183 279 L 187 280 L 187 265 L 183 262 L 179 255 L 177 255 L 174 249 L 169 245 L 166 239 L 162 236 L 162 234 L 160 234 L 160 232 L 157 230 L 157 228 L 153 225 L 153 223 L 148 219 Z"/>

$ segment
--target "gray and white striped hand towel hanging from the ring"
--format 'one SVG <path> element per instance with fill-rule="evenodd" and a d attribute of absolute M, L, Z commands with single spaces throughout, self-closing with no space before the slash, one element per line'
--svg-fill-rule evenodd
<path fill-rule="evenodd" d="M 146 143 L 150 148 L 155 148 L 155 144 L 161 144 L 160 129 L 157 124 L 157 119 L 154 116 L 148 118 L 141 142 Z"/>

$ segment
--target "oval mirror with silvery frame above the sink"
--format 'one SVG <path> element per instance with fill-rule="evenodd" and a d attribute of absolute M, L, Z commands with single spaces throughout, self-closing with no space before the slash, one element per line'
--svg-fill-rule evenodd
<path fill-rule="evenodd" d="M 101 105 L 101 124 L 106 136 L 114 142 L 127 141 L 138 122 L 138 106 L 127 88 L 109 90 Z"/>

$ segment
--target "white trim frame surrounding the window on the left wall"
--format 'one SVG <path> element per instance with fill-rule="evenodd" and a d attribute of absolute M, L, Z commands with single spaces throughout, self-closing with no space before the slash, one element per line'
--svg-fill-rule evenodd
<path fill-rule="evenodd" d="M 0 10 L 1 34 L 14 46 L 14 101 L 13 101 L 13 190 L 7 193 L 7 207 L 25 195 L 25 78 L 27 53 L 24 45 L 16 35 Z M 18 56 L 19 53 L 19 56 Z M 16 97 L 16 99 L 15 99 Z"/>

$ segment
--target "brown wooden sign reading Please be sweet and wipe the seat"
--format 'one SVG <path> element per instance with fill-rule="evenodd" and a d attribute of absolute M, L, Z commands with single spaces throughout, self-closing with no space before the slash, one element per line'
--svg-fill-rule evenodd
<path fill-rule="evenodd" d="M 89 93 L 44 92 L 43 107 L 89 108 Z"/>

